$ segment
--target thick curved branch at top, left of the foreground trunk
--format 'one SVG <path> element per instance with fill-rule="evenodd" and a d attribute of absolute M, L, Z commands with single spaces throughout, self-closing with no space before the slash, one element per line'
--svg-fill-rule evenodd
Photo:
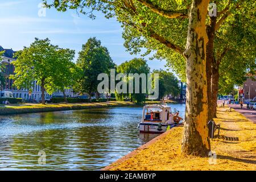
<path fill-rule="evenodd" d="M 153 11 L 156 14 L 162 15 L 166 18 L 188 18 L 188 9 L 183 10 L 164 10 L 158 5 L 153 5 L 153 3 L 150 0 L 137 0 L 142 3 L 142 5 L 148 7 L 151 11 Z"/>

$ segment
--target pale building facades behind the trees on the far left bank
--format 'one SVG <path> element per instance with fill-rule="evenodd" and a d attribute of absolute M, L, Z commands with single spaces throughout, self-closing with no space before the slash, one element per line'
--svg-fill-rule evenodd
<path fill-rule="evenodd" d="M 4 49 L 0 46 L 0 51 L 5 51 L 2 55 L 2 61 L 6 63 L 6 84 L 1 88 L 2 90 L 7 90 L 13 92 L 13 96 L 15 98 L 23 98 L 23 100 L 26 101 L 34 101 L 39 102 L 42 99 L 42 91 L 41 86 L 37 84 L 37 81 L 33 81 L 32 83 L 32 92 L 29 93 L 28 89 L 16 89 L 13 85 L 14 80 L 11 80 L 8 78 L 9 75 L 14 74 L 15 67 L 13 64 L 11 64 L 12 61 L 15 61 L 13 49 Z M 75 94 L 73 94 L 72 89 L 65 89 L 65 93 L 67 97 L 74 97 Z M 48 94 L 47 92 L 44 93 L 46 100 L 50 99 L 52 97 L 60 97 L 63 96 L 63 93 L 60 92 L 60 90 L 57 90 L 57 92 L 53 93 L 52 95 Z"/>

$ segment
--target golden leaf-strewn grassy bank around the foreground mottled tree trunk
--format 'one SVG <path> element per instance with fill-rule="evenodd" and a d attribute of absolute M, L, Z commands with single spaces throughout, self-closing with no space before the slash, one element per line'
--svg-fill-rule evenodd
<path fill-rule="evenodd" d="M 256 125 L 243 115 L 218 108 L 220 137 L 211 141 L 216 164 L 209 158 L 181 154 L 183 127 L 175 127 L 106 167 L 105 170 L 255 170 Z"/>

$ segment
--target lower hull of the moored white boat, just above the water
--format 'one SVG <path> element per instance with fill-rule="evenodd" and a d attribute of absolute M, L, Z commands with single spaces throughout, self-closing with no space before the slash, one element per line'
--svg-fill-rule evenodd
<path fill-rule="evenodd" d="M 164 133 L 168 125 L 156 122 L 141 122 L 139 123 L 139 132 L 141 133 Z"/>

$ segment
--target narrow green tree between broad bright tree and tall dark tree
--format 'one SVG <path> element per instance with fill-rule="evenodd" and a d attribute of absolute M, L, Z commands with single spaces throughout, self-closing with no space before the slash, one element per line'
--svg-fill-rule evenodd
<path fill-rule="evenodd" d="M 68 102 L 65 89 L 71 88 L 73 82 L 77 81 L 76 64 L 72 62 L 75 57 L 75 51 L 58 49 L 56 53 L 59 65 L 55 70 L 53 84 L 54 88 L 63 93 L 64 101 Z"/>

